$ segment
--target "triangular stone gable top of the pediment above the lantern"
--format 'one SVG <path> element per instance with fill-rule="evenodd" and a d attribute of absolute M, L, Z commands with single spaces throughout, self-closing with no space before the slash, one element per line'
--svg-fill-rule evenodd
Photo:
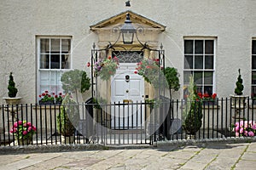
<path fill-rule="evenodd" d="M 149 20 L 140 14 L 131 12 L 130 10 L 125 11 L 121 14 L 114 15 L 107 20 L 102 20 L 96 25 L 90 26 L 91 31 L 99 31 L 105 29 L 111 29 L 116 26 L 122 26 L 125 23 L 126 14 L 130 14 L 130 20 L 135 27 L 143 26 L 144 28 L 155 30 L 155 31 L 165 31 L 166 26 L 163 26 L 154 20 Z"/>

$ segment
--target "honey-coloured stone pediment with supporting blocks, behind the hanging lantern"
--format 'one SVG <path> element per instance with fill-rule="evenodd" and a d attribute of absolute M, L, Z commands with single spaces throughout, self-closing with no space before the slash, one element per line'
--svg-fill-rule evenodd
<path fill-rule="evenodd" d="M 137 31 L 137 39 L 134 38 L 134 45 L 147 42 L 149 46 L 154 47 L 159 43 L 159 35 L 166 30 L 166 26 L 128 10 L 90 26 L 90 30 L 95 31 L 98 36 L 97 43 L 99 46 L 106 47 L 109 42 L 112 44 L 122 43 L 118 30 L 124 25 L 126 14 L 130 14 L 132 25 L 139 30 Z M 137 41 L 138 39 L 140 42 Z"/>

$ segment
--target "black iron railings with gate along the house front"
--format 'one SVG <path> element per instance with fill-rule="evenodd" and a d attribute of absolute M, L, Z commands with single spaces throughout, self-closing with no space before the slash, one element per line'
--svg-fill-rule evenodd
<path fill-rule="evenodd" d="M 17 141 L 15 134 L 10 133 L 17 121 L 31 122 L 37 127 L 31 144 L 153 144 L 159 140 L 187 139 L 183 129 L 185 101 L 164 99 L 154 103 L 124 101 L 78 106 L 79 121 L 73 122 L 74 135 L 62 138 L 57 122 L 61 105 L 2 105 L 0 146 L 26 144 L 28 139 Z M 202 124 L 195 139 L 248 135 L 234 133 L 233 125 L 254 121 L 255 108 L 249 98 L 217 99 L 214 103 L 203 103 Z"/>

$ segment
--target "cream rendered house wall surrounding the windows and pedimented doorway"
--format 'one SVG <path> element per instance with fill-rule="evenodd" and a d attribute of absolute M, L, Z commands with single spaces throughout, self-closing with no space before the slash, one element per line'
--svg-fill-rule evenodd
<path fill-rule="evenodd" d="M 241 69 L 244 94 L 252 94 L 256 1 L 140 0 L 131 1 L 131 7 L 127 8 L 125 1 L 120 0 L 25 0 L 3 1 L 0 8 L 0 104 L 4 104 L 2 98 L 8 95 L 9 72 L 13 72 L 21 102 L 38 102 L 38 89 L 43 87 L 39 71 L 42 66 L 41 52 L 38 52 L 40 38 L 61 38 L 63 48 L 67 48 L 64 44 L 70 40 L 67 42 L 69 69 L 84 70 L 90 76 L 86 63 L 90 62 L 93 42 L 100 48 L 108 45 L 99 42 L 99 34 L 91 26 L 127 10 L 165 26 L 158 34 L 156 47 L 160 42 L 163 44 L 166 66 L 177 68 L 182 86 L 185 85 L 184 41 L 204 40 L 207 44 L 205 41 L 211 40 L 214 44 L 212 93 L 217 93 L 219 98 L 234 94 L 238 69 Z M 175 98 L 183 99 L 182 88 Z"/>

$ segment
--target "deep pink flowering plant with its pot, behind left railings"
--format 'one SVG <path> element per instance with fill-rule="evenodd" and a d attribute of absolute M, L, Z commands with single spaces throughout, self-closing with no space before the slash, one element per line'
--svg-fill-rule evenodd
<path fill-rule="evenodd" d="M 15 135 L 17 144 L 32 144 L 32 135 L 36 133 L 37 128 L 31 122 L 17 121 L 10 130 Z"/>

